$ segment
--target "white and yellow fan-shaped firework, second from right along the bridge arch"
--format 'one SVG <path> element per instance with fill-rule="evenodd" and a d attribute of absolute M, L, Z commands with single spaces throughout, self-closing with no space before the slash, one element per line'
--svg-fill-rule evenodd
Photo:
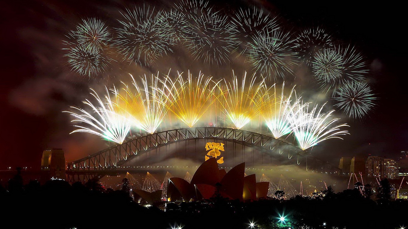
<path fill-rule="evenodd" d="M 280 97 L 276 97 L 276 89 L 273 95 L 267 97 L 266 108 L 262 112 L 266 126 L 276 139 L 292 132 L 288 112 L 291 108 L 290 101 L 295 87 L 292 88 L 287 97 L 284 96 L 284 87 L 285 84 L 282 85 Z"/>

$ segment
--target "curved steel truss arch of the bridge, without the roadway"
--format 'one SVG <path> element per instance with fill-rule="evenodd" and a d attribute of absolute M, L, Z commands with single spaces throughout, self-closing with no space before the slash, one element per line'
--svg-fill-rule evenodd
<path fill-rule="evenodd" d="M 122 144 L 116 144 L 95 154 L 69 163 L 67 181 L 84 181 L 94 176 L 104 176 L 113 170 L 120 170 L 121 166 L 138 155 L 155 150 L 165 145 L 195 139 L 211 139 L 228 141 L 255 148 L 259 152 L 273 156 L 287 153 L 288 158 L 305 156 L 306 151 L 295 145 L 275 139 L 265 134 L 247 130 L 237 130 L 224 127 L 195 127 L 165 130 L 153 134 L 146 134 L 129 139 Z M 81 178 L 82 176 L 82 178 Z"/>

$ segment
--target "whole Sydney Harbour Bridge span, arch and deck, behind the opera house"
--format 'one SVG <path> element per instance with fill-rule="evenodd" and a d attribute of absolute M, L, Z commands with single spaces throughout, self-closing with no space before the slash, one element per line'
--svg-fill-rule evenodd
<path fill-rule="evenodd" d="M 133 137 L 122 144 L 68 164 L 69 182 L 86 182 L 90 178 L 126 172 L 166 172 L 169 159 L 190 159 L 204 162 L 204 146 L 212 141 L 224 143 L 225 167 L 245 162 L 246 166 L 264 168 L 277 165 L 286 158 L 291 164 L 309 170 L 336 170 L 297 146 L 268 134 L 225 127 L 194 127 L 164 130 Z M 170 155 L 170 152 L 171 155 Z M 163 170 L 163 171 L 161 171 Z"/>

